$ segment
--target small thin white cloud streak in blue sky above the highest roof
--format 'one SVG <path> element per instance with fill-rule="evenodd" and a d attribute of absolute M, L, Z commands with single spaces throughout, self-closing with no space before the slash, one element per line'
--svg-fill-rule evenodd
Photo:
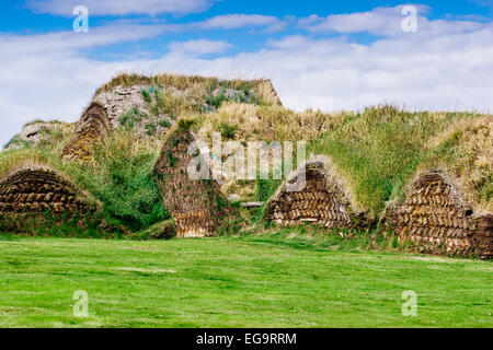
<path fill-rule="evenodd" d="M 261 14 L 226 14 L 218 15 L 200 23 L 204 28 L 236 30 L 243 27 L 262 26 L 270 31 L 280 31 L 285 23 L 272 15 Z"/>

